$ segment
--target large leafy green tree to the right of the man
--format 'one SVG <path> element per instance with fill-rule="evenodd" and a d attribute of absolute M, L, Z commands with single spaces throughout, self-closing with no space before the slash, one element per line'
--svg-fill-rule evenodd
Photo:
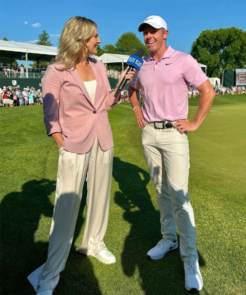
<path fill-rule="evenodd" d="M 223 85 L 224 70 L 246 66 L 246 32 L 235 27 L 202 31 L 192 44 L 191 55 L 207 65 L 208 76 L 222 73 Z"/>

